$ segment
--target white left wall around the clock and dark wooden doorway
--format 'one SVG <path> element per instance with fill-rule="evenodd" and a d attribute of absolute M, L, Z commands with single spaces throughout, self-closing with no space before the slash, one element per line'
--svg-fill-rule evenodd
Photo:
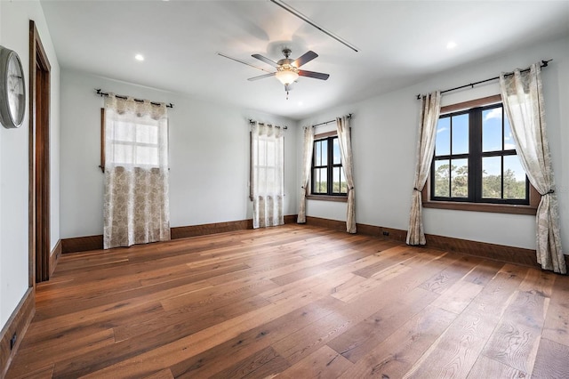
<path fill-rule="evenodd" d="M 1 2 L 0 44 L 18 52 L 29 85 L 29 20 L 36 28 L 51 71 L 51 228 L 53 248 L 60 238 L 59 113 L 60 68 L 38 2 Z M 26 107 L 29 109 L 29 99 Z M 28 289 L 28 110 L 19 129 L 0 127 L 0 327 Z"/>

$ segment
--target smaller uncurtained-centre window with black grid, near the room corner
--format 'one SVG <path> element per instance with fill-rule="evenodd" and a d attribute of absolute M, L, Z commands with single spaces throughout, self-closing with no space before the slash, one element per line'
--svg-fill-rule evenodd
<path fill-rule="evenodd" d="M 315 136 L 311 180 L 312 195 L 343 198 L 348 195 L 348 184 L 341 166 L 340 144 L 336 133 Z"/>

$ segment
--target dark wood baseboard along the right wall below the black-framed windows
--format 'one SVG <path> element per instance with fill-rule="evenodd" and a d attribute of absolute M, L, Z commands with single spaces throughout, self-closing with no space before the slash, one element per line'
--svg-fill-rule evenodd
<path fill-rule="evenodd" d="M 306 217 L 306 223 L 312 226 L 328 228 L 332 230 L 346 230 L 346 222 L 329 220 L 318 217 Z M 373 237 L 393 239 L 405 242 L 407 231 L 381 226 L 357 224 L 357 234 L 364 234 Z M 499 262 L 508 262 L 534 268 L 541 268 L 537 263 L 535 250 L 525 249 L 515 246 L 504 246 L 490 244 L 487 242 L 470 241 L 461 238 L 451 238 L 437 236 L 434 234 L 425 235 L 428 248 L 450 250 L 453 252 L 474 255 Z M 565 262 L 569 266 L 569 255 L 565 255 Z"/>

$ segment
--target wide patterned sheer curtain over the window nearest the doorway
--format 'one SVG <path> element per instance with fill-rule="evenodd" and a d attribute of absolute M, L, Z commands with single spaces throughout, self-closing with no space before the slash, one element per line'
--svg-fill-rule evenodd
<path fill-rule="evenodd" d="M 170 239 L 164 104 L 105 99 L 104 248 Z"/>

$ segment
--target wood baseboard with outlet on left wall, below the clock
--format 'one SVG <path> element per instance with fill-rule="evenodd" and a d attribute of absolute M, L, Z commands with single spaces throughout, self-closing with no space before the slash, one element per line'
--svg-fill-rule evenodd
<path fill-rule="evenodd" d="M 35 313 L 36 295 L 33 287 L 29 287 L 16 309 L 12 312 L 10 319 L 6 321 L 2 332 L 0 332 L 0 377 L 3 378 L 6 375 Z M 14 334 L 16 334 L 16 344 L 10 349 Z"/>

